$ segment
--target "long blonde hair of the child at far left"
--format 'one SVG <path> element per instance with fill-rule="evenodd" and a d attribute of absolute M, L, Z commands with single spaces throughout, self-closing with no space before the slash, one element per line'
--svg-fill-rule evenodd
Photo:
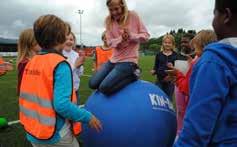
<path fill-rule="evenodd" d="M 31 49 L 36 45 L 37 42 L 35 40 L 33 29 L 26 29 L 21 32 L 17 44 L 17 66 L 23 59 L 30 59 L 33 56 Z"/>

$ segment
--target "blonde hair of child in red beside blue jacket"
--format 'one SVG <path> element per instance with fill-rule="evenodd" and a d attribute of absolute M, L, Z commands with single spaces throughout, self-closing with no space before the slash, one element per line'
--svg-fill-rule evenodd
<path fill-rule="evenodd" d="M 191 45 L 194 47 L 194 44 L 197 45 L 199 50 L 202 52 L 204 47 L 212 42 L 217 41 L 217 36 L 212 30 L 201 30 L 197 35 L 192 39 Z M 196 49 L 195 49 L 196 50 Z"/>

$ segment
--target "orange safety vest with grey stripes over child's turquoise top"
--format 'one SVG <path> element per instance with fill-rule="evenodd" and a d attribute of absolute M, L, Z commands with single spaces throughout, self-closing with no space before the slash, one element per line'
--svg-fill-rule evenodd
<path fill-rule="evenodd" d="M 20 87 L 20 122 L 26 132 L 37 139 L 50 139 L 56 128 L 56 111 L 53 108 L 54 71 L 66 61 L 55 53 L 34 56 L 26 65 Z M 72 102 L 77 103 L 72 91 Z M 73 123 L 75 135 L 81 132 L 81 124 Z"/>

